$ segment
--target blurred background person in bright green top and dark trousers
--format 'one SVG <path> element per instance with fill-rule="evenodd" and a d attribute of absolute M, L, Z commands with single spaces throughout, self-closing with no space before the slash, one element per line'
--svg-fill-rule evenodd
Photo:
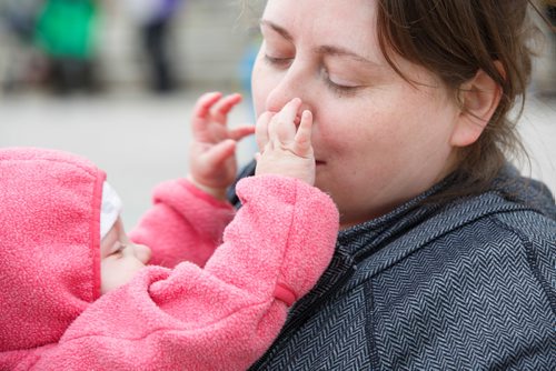
<path fill-rule="evenodd" d="M 98 89 L 95 0 L 46 0 L 38 18 L 36 41 L 49 63 L 48 83 L 57 93 Z"/>

